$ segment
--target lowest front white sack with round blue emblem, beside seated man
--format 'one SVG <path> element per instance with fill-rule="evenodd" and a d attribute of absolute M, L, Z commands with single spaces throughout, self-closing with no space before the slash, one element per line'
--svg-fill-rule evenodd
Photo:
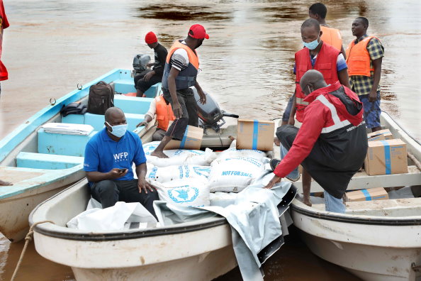
<path fill-rule="evenodd" d="M 157 188 L 159 199 L 177 206 L 209 206 L 209 187 L 198 179 L 173 180 L 161 183 L 152 181 Z"/>

